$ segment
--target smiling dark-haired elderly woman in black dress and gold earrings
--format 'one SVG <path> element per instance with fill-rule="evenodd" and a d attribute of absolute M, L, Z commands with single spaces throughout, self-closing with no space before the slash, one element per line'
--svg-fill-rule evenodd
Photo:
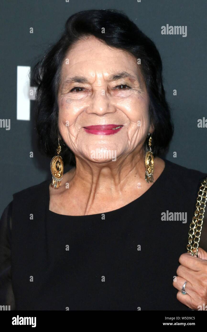
<path fill-rule="evenodd" d="M 2 214 L 1 304 L 207 305 L 206 217 L 197 255 L 186 249 L 207 174 L 160 158 L 173 124 L 153 41 L 118 11 L 82 11 L 33 75 L 52 180 L 15 193 Z"/>

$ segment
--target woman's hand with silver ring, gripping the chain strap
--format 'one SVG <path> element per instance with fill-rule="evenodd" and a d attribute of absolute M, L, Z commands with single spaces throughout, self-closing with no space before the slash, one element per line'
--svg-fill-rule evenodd
<path fill-rule="evenodd" d="M 207 252 L 198 248 L 198 257 L 190 253 L 179 258 L 176 281 L 173 286 L 179 290 L 177 299 L 194 310 L 207 310 Z M 187 294 L 182 294 L 184 283 Z"/>

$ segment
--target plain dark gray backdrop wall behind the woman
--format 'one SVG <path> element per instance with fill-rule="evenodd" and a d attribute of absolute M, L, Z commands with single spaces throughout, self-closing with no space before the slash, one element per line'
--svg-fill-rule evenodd
<path fill-rule="evenodd" d="M 66 19 L 80 10 L 122 10 L 155 42 L 175 125 L 166 158 L 207 172 L 207 128 L 197 126 L 198 119 L 207 119 L 206 0 L 1 0 L 0 7 L 0 118 L 10 119 L 10 130 L 0 128 L 0 215 L 13 193 L 51 178 L 50 159 L 36 147 L 33 101 L 31 120 L 17 120 L 17 66 L 32 66 L 59 38 Z M 187 37 L 161 35 L 161 26 L 167 24 L 187 26 Z"/>

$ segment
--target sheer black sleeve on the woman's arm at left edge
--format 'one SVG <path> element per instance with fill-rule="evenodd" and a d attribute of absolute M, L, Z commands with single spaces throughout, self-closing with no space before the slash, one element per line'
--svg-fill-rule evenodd
<path fill-rule="evenodd" d="M 4 209 L 0 219 L 0 305 L 10 305 L 10 310 L 15 310 L 11 276 L 11 229 L 12 202 Z"/>

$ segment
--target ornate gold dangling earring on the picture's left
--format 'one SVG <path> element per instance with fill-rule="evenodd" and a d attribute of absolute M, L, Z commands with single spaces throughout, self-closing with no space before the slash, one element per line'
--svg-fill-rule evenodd
<path fill-rule="evenodd" d="M 51 185 L 54 188 L 59 188 L 59 186 L 61 186 L 61 180 L 63 176 L 63 161 L 62 157 L 59 155 L 60 151 L 61 151 L 61 146 L 59 144 L 59 138 L 58 138 L 57 156 L 54 156 L 50 163 L 50 169 L 52 173 Z"/>

